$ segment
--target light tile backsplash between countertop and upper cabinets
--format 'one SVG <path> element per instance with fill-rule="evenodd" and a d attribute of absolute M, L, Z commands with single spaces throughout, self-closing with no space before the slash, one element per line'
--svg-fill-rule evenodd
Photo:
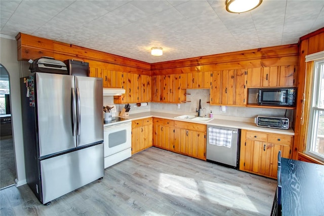
<path fill-rule="evenodd" d="M 140 113 L 147 112 L 150 110 L 158 110 L 158 111 L 166 111 L 177 112 L 183 114 L 195 113 L 199 104 L 199 99 L 201 99 L 201 107 L 203 111 L 201 114 L 208 115 L 212 111 L 214 115 L 218 116 L 230 116 L 230 117 L 245 117 L 245 118 L 255 118 L 256 116 L 285 116 L 285 109 L 269 109 L 269 108 L 259 108 L 259 107 L 241 107 L 241 106 L 226 106 L 226 112 L 221 112 L 221 106 L 218 105 L 210 105 L 207 101 L 210 100 L 210 90 L 209 89 L 187 89 L 187 103 L 181 103 L 180 109 L 178 109 L 178 104 L 176 103 L 156 103 L 151 102 L 148 103 L 147 106 L 136 106 L 136 103 L 131 104 L 130 113 Z M 190 94 L 190 95 L 189 95 Z M 113 96 L 104 96 L 103 97 L 104 105 L 112 105 Z M 121 109 L 125 106 L 124 104 L 115 104 L 117 113 L 120 112 Z M 206 111 L 205 111 L 205 109 Z M 286 114 L 287 118 L 292 121 L 294 113 L 293 110 L 287 110 Z"/>

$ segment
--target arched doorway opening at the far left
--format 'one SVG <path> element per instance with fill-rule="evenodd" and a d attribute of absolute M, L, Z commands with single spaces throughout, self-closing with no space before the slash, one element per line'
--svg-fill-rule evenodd
<path fill-rule="evenodd" d="M 16 166 L 11 123 L 10 79 L 8 70 L 0 63 L 0 188 L 15 184 Z"/>

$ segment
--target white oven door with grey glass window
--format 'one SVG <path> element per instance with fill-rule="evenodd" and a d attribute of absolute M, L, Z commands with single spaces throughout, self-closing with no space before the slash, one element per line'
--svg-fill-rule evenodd
<path fill-rule="evenodd" d="M 132 123 L 104 127 L 104 157 L 132 148 Z"/>

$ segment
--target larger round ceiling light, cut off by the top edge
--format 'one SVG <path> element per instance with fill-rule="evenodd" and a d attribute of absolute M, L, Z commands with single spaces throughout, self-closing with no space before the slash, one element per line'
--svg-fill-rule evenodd
<path fill-rule="evenodd" d="M 226 11 L 230 13 L 244 13 L 261 5 L 262 0 L 226 0 Z"/>

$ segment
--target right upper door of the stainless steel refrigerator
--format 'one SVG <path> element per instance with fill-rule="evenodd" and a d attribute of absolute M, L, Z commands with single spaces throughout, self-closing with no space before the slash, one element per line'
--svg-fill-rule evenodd
<path fill-rule="evenodd" d="M 102 79 L 75 76 L 77 147 L 103 142 Z"/>

